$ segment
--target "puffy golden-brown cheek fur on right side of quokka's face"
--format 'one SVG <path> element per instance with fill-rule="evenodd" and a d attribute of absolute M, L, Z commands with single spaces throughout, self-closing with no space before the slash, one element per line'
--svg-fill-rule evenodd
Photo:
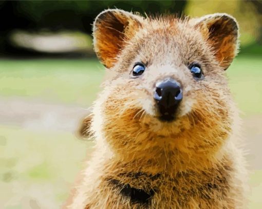
<path fill-rule="evenodd" d="M 227 96 L 217 88 L 205 86 L 197 91 L 196 102 L 191 112 L 179 119 L 184 124 L 181 132 L 171 135 L 172 138 L 176 138 L 171 143 L 171 148 L 177 148 L 181 153 L 191 156 L 192 154 L 207 156 L 215 154 L 228 138 L 232 121 L 228 111 L 230 107 L 225 101 L 229 98 L 223 98 Z"/>

